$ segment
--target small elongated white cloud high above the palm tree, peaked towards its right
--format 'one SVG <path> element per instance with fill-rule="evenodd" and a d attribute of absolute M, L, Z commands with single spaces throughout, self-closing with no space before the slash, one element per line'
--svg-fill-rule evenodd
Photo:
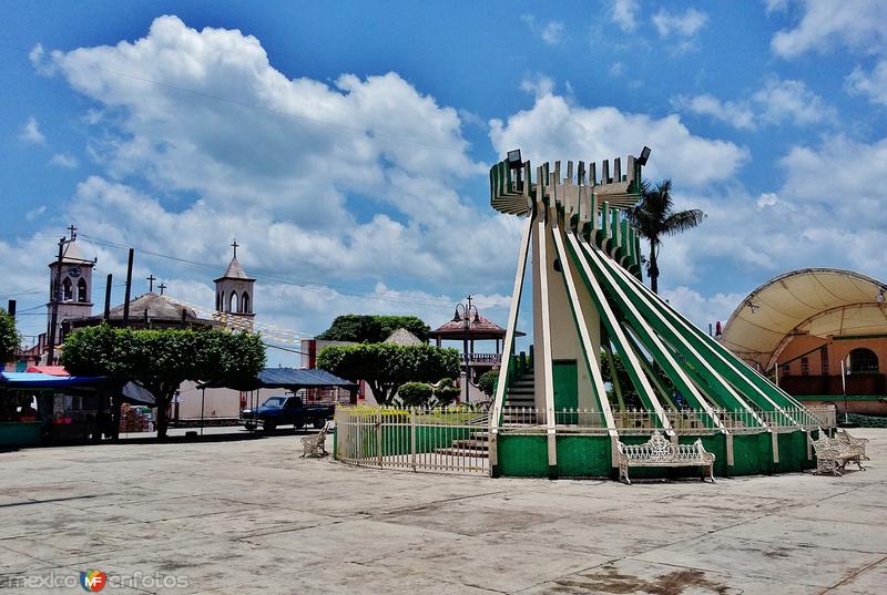
<path fill-rule="evenodd" d="M 803 81 L 771 78 L 751 96 L 738 101 L 721 101 L 710 94 L 680 95 L 672 105 L 695 114 L 720 120 L 737 130 L 757 130 L 762 124 L 791 123 L 806 126 L 835 122 L 836 110 L 810 91 Z"/>

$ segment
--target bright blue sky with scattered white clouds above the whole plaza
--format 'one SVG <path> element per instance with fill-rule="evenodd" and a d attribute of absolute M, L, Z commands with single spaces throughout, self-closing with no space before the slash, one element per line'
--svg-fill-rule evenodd
<path fill-rule="evenodd" d="M 212 307 L 236 237 L 264 324 L 437 326 L 468 293 L 503 322 L 519 223 L 489 207 L 487 171 L 516 146 L 600 161 L 650 145 L 646 174 L 708 214 L 661 263 L 663 293 L 700 325 L 786 270 L 887 277 L 877 0 L 3 12 L 0 299 L 30 310 L 28 335 L 71 223 L 115 302 L 133 246 L 136 294 L 153 274 Z"/>

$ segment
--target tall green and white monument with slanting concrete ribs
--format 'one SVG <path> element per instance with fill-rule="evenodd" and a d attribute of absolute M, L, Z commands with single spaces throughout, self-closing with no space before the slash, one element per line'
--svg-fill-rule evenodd
<path fill-rule="evenodd" d="M 629 156 L 624 173 L 621 158 L 612 170 L 609 161 L 600 168 L 580 161 L 564 172 L 560 162 L 533 170 L 514 151 L 490 171 L 492 207 L 526 219 L 491 408 L 495 475 L 615 476 L 620 448 L 655 433 L 675 448 L 700 440 L 718 475 L 814 465 L 810 432 L 828 423 L 824 413 L 806 410 L 642 283 L 626 209 L 638 203 L 649 157 L 648 147 Z M 527 283 L 530 358 L 514 353 Z M 666 473 L 650 465 L 640 475 Z"/>

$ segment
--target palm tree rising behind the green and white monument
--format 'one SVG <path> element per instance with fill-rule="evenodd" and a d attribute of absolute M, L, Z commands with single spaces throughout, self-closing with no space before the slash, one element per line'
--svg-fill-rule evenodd
<path fill-rule="evenodd" d="M 646 260 L 646 273 L 650 275 L 650 288 L 659 293 L 659 248 L 663 236 L 671 236 L 692 229 L 702 223 L 705 214 L 699 208 L 672 211 L 672 181 L 663 179 L 656 185 L 644 181 L 641 184 L 641 202 L 629 209 L 629 220 L 638 228 L 642 237 L 650 240 L 650 256 Z"/>

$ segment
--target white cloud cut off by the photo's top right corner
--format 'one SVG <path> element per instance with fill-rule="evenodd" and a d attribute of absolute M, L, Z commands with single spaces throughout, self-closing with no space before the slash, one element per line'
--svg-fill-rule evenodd
<path fill-rule="evenodd" d="M 863 53 L 887 51 L 887 2 L 883 0 L 787 0 L 771 1 L 771 11 L 797 6 L 799 22 L 778 31 L 771 41 L 783 58 L 808 51 L 832 52 L 844 47 Z"/>

